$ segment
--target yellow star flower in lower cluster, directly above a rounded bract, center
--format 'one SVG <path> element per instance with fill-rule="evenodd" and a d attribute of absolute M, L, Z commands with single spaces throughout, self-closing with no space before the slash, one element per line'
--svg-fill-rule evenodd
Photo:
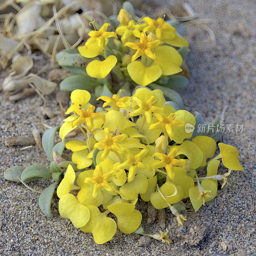
<path fill-rule="evenodd" d="M 140 153 L 133 156 L 131 151 L 126 150 L 127 153 L 125 155 L 127 160 L 122 164 L 118 164 L 116 166 L 116 170 L 120 170 L 120 169 L 129 170 L 128 182 L 131 182 L 133 180 L 138 169 L 144 170 L 144 171 L 153 171 L 152 167 L 149 164 L 144 164 L 141 162 L 142 158 L 147 155 L 148 151 L 149 149 L 142 149 Z"/>

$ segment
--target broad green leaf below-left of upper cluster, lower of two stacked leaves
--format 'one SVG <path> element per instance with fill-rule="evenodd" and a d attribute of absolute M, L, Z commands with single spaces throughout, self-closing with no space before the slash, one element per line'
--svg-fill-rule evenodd
<path fill-rule="evenodd" d="M 74 75 L 63 79 L 60 82 L 60 90 L 70 92 L 76 89 L 89 91 L 97 85 L 99 85 L 99 82 L 93 80 L 89 76 Z"/>

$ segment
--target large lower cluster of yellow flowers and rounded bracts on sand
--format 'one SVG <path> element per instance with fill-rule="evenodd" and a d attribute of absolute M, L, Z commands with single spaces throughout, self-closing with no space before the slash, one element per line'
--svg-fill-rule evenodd
<path fill-rule="evenodd" d="M 172 204 L 189 197 L 197 211 L 216 196 L 217 180 L 224 185 L 231 170 L 243 170 L 233 146 L 219 143 L 220 154 L 212 158 L 217 145 L 211 137 L 189 140 L 193 131 L 187 132 L 186 124 L 194 126 L 195 117 L 166 104 L 161 90 L 140 87 L 132 97 L 119 94 L 98 98 L 104 104 L 95 111 L 88 102 L 89 92 L 73 91 L 66 114 L 74 114 L 60 127 L 63 142 L 76 127 L 84 140 L 66 143 L 80 172 L 68 166 L 57 188 L 59 212 L 76 228 L 92 232 L 97 244 L 112 239 L 117 227 L 127 234 L 139 228 L 142 215 L 135 209 L 139 196 L 156 209 L 169 207 L 183 225 L 186 217 Z M 217 175 L 218 159 L 229 169 L 224 175 Z M 199 178 L 197 170 L 206 166 L 207 175 Z M 78 193 L 70 193 L 74 189 Z M 107 217 L 110 212 L 117 224 Z M 166 235 L 150 236 L 165 242 Z"/>

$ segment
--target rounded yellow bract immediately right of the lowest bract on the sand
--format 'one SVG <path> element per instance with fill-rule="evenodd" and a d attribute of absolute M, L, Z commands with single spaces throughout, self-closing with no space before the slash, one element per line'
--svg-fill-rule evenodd
<path fill-rule="evenodd" d="M 141 223 L 142 215 L 135 205 L 127 203 L 111 204 L 108 210 L 116 215 L 117 226 L 121 232 L 131 234 Z"/>

